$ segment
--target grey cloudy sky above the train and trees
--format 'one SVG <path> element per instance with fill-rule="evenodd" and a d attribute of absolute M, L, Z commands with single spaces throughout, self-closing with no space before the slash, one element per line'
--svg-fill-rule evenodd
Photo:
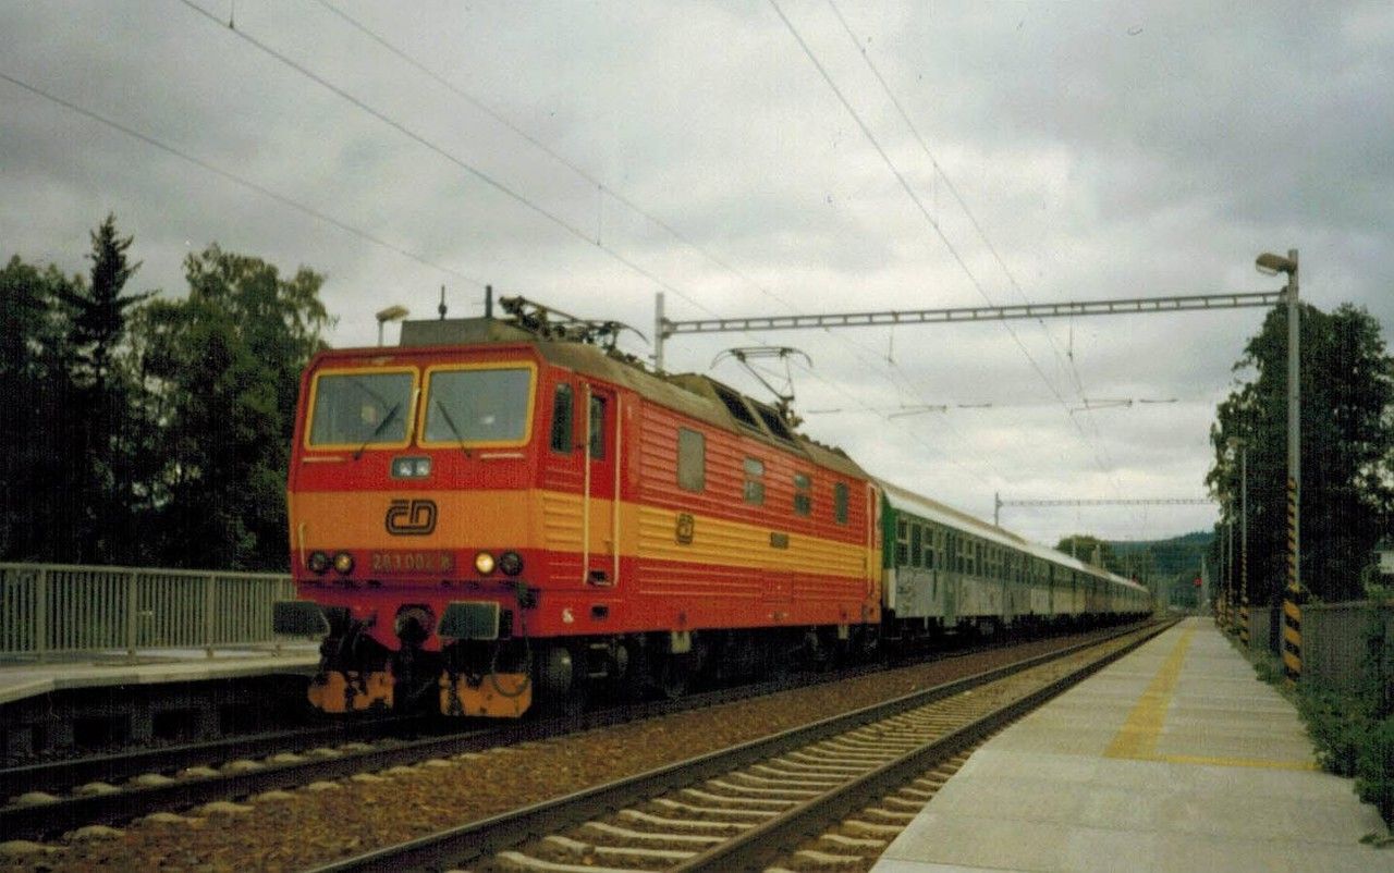
<path fill-rule="evenodd" d="M 1387 331 L 1391 95 L 1387 3 L 6 0 L 0 256 L 85 270 L 114 212 L 138 290 L 183 294 L 212 241 L 305 265 L 343 347 L 442 284 L 453 316 L 489 283 L 651 340 L 659 291 L 673 319 L 1257 291 L 1255 255 L 1298 248 L 1305 299 Z M 796 347 L 813 437 L 990 518 L 1203 496 L 1260 320 L 679 336 L 666 362 L 758 395 L 717 355 Z"/>

